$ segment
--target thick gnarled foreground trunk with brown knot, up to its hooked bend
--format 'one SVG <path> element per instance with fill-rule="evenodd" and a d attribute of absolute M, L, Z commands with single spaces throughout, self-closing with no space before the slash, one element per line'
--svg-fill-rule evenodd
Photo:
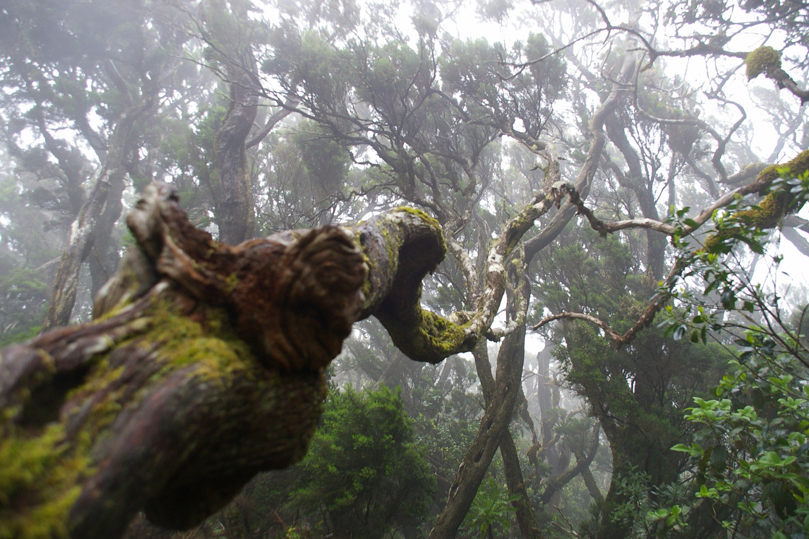
<path fill-rule="evenodd" d="M 199 523 L 303 457 L 323 369 L 361 317 L 400 335 L 429 318 L 403 348 L 442 354 L 430 331 L 443 318 L 418 307 L 414 283 L 445 247 L 417 210 L 228 246 L 153 183 L 127 224 L 138 245 L 95 320 L 0 351 L 0 537 L 114 539 L 140 510 Z"/>

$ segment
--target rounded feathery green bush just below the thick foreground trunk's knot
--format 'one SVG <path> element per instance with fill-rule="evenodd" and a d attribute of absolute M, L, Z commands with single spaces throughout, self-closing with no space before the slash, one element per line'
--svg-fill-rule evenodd
<path fill-rule="evenodd" d="M 400 395 L 385 386 L 332 391 L 298 467 L 290 508 L 316 516 L 315 530 L 332 537 L 385 537 L 419 524 L 435 488 Z"/>

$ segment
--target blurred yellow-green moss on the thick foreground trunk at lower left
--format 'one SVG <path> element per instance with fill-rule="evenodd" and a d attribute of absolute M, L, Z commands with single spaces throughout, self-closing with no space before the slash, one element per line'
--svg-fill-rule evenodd
<path fill-rule="evenodd" d="M 189 376 L 210 377 L 226 385 L 236 370 L 249 373 L 256 368 L 248 344 L 232 330 L 227 313 L 211 307 L 199 307 L 204 322 L 194 321 L 177 312 L 170 301 L 155 298 L 144 316 L 150 321 L 144 333 L 133 336 L 116 348 L 129 344 L 148 347 L 161 343 L 158 361 L 162 368 L 151 381 L 189 364 L 197 365 Z M 15 427 L 11 411 L 2 426 L 0 442 L 0 539 L 53 539 L 68 537 L 70 508 L 81 492 L 83 478 L 92 473 L 89 453 L 106 427 L 121 411 L 126 385 L 108 390 L 124 373 L 125 366 L 111 368 L 109 355 L 100 356 L 87 374 L 83 385 L 71 390 L 68 399 L 104 394 L 83 420 L 78 434 L 66 442 L 64 423 L 49 423 L 39 432 Z M 125 406 L 133 406 L 150 390 L 143 387 Z M 74 413 L 78 413 L 75 410 Z M 15 507 L 14 499 L 40 500 Z"/>

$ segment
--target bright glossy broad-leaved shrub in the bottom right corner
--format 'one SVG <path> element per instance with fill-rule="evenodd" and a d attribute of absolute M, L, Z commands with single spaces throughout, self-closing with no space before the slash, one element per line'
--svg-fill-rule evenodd
<path fill-rule="evenodd" d="M 687 419 L 701 425 L 696 441 L 674 449 L 697 466 L 697 499 L 726 507 L 726 527 L 805 537 L 794 534 L 809 532 L 806 361 L 779 352 L 762 331 L 748 331 L 740 345 L 717 398 L 695 398 L 689 409 Z"/>

